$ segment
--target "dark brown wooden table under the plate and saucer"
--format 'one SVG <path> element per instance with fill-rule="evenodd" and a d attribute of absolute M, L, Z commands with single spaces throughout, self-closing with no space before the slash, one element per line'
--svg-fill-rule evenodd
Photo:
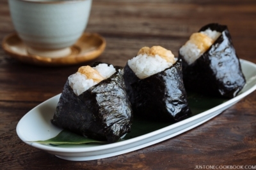
<path fill-rule="evenodd" d="M 175 56 L 192 32 L 228 25 L 237 55 L 256 63 L 256 1 L 94 0 L 86 32 L 107 41 L 97 60 L 125 66 L 142 46 L 161 45 Z M 15 32 L 0 0 L 0 39 Z M 94 60 L 93 60 L 94 61 Z M 93 62 L 91 61 L 91 62 Z M 17 123 L 36 105 L 60 94 L 67 77 L 91 62 L 40 67 L 0 49 L 0 169 L 195 169 L 256 165 L 256 92 L 191 131 L 124 155 L 86 162 L 62 160 L 23 143 Z"/>

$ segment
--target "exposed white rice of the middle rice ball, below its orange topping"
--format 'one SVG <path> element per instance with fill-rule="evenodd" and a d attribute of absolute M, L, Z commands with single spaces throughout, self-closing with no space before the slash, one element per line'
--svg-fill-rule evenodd
<path fill-rule="evenodd" d="M 150 56 L 147 54 L 140 54 L 131 60 L 128 60 L 128 66 L 138 78 L 143 79 L 172 66 L 172 62 L 167 62 L 159 55 Z"/>

